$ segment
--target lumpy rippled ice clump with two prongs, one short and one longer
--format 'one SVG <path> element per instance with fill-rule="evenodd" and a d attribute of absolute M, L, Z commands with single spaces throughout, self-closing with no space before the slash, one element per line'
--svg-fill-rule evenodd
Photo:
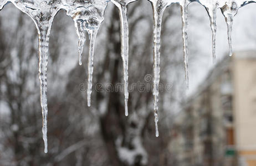
<path fill-rule="evenodd" d="M 93 86 L 93 56 L 95 38 L 104 20 L 104 11 L 107 5 L 106 1 L 65 1 L 63 6 L 66 9 L 66 14 L 69 15 L 75 23 L 76 33 L 79 37 L 79 64 L 81 65 L 81 54 L 85 42 L 84 32 L 87 31 L 90 38 L 89 58 L 88 58 L 88 89 L 87 103 L 91 105 L 91 87 Z"/>

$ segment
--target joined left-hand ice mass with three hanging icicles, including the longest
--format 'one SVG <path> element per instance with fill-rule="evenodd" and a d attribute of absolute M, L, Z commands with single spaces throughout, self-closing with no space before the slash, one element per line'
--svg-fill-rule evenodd
<path fill-rule="evenodd" d="M 106 8 L 106 1 L 0 1 L 0 9 L 4 4 L 12 2 L 14 6 L 33 19 L 37 30 L 39 40 L 39 80 L 40 80 L 40 102 L 43 115 L 43 140 L 44 152 L 47 153 L 47 63 L 48 63 L 48 45 L 50 28 L 54 16 L 63 8 L 66 14 L 70 15 L 75 22 L 75 27 L 79 35 L 79 55 L 83 50 L 85 41 L 84 32 L 88 32 L 90 37 L 90 50 L 88 60 L 88 106 L 90 106 L 90 94 L 93 79 L 93 53 L 95 38 L 99 25 L 103 22 L 103 14 Z M 79 58 L 79 63 L 81 58 Z"/>

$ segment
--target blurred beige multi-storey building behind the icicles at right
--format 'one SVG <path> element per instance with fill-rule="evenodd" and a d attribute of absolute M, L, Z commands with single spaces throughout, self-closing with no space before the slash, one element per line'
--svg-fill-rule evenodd
<path fill-rule="evenodd" d="M 172 129 L 176 165 L 256 165 L 256 52 L 234 53 L 209 72 Z"/>

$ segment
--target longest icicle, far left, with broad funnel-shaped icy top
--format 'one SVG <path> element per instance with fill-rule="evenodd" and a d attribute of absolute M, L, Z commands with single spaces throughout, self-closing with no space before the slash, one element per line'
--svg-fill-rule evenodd
<path fill-rule="evenodd" d="M 44 152 L 48 152 L 47 143 L 47 63 L 48 63 L 48 46 L 49 35 L 52 27 L 54 16 L 59 11 L 58 3 L 50 3 L 47 1 L 41 2 L 28 2 L 22 3 L 21 1 L 11 1 L 14 6 L 20 9 L 22 12 L 29 15 L 33 19 L 37 30 L 39 40 L 39 81 L 40 81 L 40 104 L 42 107 L 43 116 L 43 140 L 44 140 Z M 55 6 L 56 5 L 56 6 Z"/>

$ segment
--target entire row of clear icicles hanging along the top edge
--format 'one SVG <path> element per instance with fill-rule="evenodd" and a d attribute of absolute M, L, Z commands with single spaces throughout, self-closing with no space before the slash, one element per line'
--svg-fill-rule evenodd
<path fill-rule="evenodd" d="M 121 57 L 124 66 L 124 94 L 125 94 L 125 115 L 128 115 L 128 62 L 129 62 L 129 27 L 127 21 L 127 4 L 136 0 L 110 0 L 116 5 L 120 13 L 120 33 L 121 33 Z M 221 8 L 221 11 L 226 19 L 229 43 L 229 55 L 232 55 L 232 24 L 235 14 L 240 7 L 248 3 L 256 1 L 244 0 L 149 0 L 153 9 L 153 96 L 154 96 L 154 115 L 156 137 L 158 137 L 158 84 L 160 81 L 160 37 L 161 37 L 161 22 L 162 15 L 167 6 L 172 3 L 178 3 L 181 6 L 182 18 L 182 38 L 183 38 L 183 53 L 185 64 L 185 80 L 188 86 L 188 52 L 187 52 L 187 6 L 191 2 L 198 2 L 206 8 L 209 15 L 211 30 L 212 30 L 212 54 L 213 61 L 216 57 L 216 11 Z M 4 4 L 11 2 L 22 12 L 27 13 L 33 19 L 39 39 L 39 80 L 40 80 L 40 102 L 42 106 L 43 116 L 43 139 L 47 153 L 47 59 L 50 28 L 54 16 L 60 9 L 65 9 L 66 14 L 74 20 L 76 33 L 79 37 L 78 52 L 79 64 L 81 65 L 81 54 L 85 43 L 85 32 L 89 34 L 89 58 L 88 58 L 88 106 L 90 106 L 91 87 L 93 79 L 93 58 L 95 39 L 100 24 L 104 20 L 104 11 L 107 6 L 107 0 L 81 1 L 81 0 L 0 0 L 0 9 Z"/>

